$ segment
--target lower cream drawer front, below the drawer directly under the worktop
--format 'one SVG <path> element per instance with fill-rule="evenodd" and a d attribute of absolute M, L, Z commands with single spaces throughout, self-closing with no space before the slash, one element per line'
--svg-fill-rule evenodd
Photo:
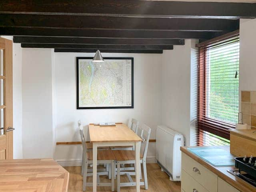
<path fill-rule="evenodd" d="M 184 170 L 182 170 L 181 180 L 181 188 L 185 192 L 209 192 Z"/>

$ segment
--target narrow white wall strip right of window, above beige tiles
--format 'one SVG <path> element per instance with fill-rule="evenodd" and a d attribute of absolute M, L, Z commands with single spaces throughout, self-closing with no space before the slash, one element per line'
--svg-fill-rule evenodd
<path fill-rule="evenodd" d="M 240 20 L 240 90 L 256 90 L 256 19 Z"/>

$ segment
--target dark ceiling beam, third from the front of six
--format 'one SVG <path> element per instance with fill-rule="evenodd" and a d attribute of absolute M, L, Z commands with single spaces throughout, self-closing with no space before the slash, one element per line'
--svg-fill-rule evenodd
<path fill-rule="evenodd" d="M 224 33 L 226 32 L 0 27 L 0 35 L 11 36 L 210 39 Z"/>

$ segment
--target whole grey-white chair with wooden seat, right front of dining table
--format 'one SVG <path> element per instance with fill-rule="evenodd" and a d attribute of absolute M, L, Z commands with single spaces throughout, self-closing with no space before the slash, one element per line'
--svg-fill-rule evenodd
<path fill-rule="evenodd" d="M 140 163 L 143 165 L 144 182 L 140 182 L 140 185 L 144 185 L 145 189 L 148 189 L 148 177 L 146 168 L 146 156 L 148 151 L 148 143 L 150 138 L 150 127 L 143 125 L 142 128 L 138 128 L 138 135 L 142 138 Z M 136 186 L 136 182 L 133 182 L 131 175 L 135 175 L 135 172 L 127 172 L 120 170 L 120 164 L 135 164 L 135 151 L 129 150 L 113 150 L 113 153 L 117 161 L 117 192 L 120 192 L 120 187 L 123 186 Z M 126 174 L 130 182 L 120 183 L 120 175 Z"/>

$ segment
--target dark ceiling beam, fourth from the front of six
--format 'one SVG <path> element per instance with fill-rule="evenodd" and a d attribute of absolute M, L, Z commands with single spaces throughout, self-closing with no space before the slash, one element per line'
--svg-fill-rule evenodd
<path fill-rule="evenodd" d="M 14 36 L 14 43 L 34 44 L 101 44 L 101 45 L 184 45 L 182 39 L 139 39 L 139 38 L 67 38 Z"/>

